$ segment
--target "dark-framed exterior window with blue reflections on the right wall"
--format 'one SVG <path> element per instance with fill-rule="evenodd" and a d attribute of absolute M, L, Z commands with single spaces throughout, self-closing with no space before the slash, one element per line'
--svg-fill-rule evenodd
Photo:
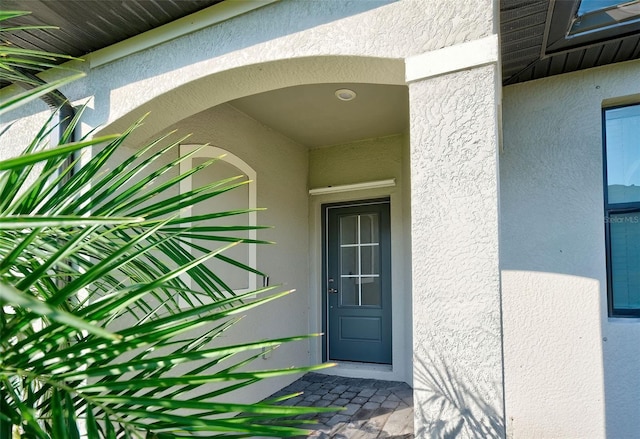
<path fill-rule="evenodd" d="M 610 316 L 640 316 L 640 105 L 604 110 Z"/>

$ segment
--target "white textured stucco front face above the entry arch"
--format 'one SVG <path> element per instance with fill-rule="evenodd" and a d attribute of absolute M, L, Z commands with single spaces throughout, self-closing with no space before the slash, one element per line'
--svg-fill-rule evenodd
<path fill-rule="evenodd" d="M 102 66 L 88 79 L 90 87 L 98 89 L 98 81 L 111 84 L 109 98 L 119 105 L 111 107 L 110 122 L 183 84 L 236 68 L 255 65 L 250 72 L 253 82 L 274 81 L 270 87 L 277 88 L 299 84 L 296 81 L 305 75 L 298 75 L 297 69 L 310 66 L 296 68 L 292 62 L 285 79 L 270 78 L 268 67 L 259 64 L 327 55 L 403 59 L 478 39 L 492 33 L 491 4 L 491 0 L 283 1 Z M 355 68 L 350 62 L 321 63 L 312 71 L 318 81 L 330 82 L 329 76 L 337 79 Z M 115 78 L 110 77 L 113 71 L 118 72 Z M 245 80 L 239 79 L 242 82 L 228 78 L 225 88 L 236 97 L 251 94 Z M 213 81 L 211 87 L 219 83 Z"/>

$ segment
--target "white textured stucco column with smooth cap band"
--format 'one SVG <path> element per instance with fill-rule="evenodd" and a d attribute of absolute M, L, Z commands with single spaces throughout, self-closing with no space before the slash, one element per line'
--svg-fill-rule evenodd
<path fill-rule="evenodd" d="M 407 61 L 419 438 L 505 435 L 497 47 L 494 35 Z"/>

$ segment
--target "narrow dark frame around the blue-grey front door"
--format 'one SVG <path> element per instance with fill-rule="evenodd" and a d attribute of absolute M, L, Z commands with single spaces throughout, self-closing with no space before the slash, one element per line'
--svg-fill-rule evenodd
<path fill-rule="evenodd" d="M 335 202 L 335 203 L 323 203 L 320 206 L 320 210 L 322 212 L 321 218 L 321 228 L 322 228 L 322 238 L 321 238 L 321 246 L 322 246 L 322 268 L 321 268 L 321 285 L 320 292 L 322 297 L 322 361 L 329 361 L 329 303 L 327 297 L 327 249 L 328 249 L 328 214 L 329 209 L 337 208 L 337 207 L 356 207 L 356 206 L 367 206 L 373 204 L 387 204 L 389 207 L 389 215 L 391 215 L 391 198 L 390 197 L 377 197 L 371 199 L 363 199 L 363 200 L 354 200 L 354 201 L 344 201 L 344 202 Z M 389 233 L 391 233 L 391 224 L 389 224 Z M 393 261 L 392 251 L 389 249 L 389 257 Z M 389 272 L 389 276 L 393 279 L 391 271 Z M 391 282 L 390 282 L 391 283 Z M 391 283 L 392 285 L 392 283 Z M 393 297 L 393 287 L 391 287 L 391 297 Z M 391 311 L 393 310 L 393 300 L 390 300 L 389 306 L 391 307 Z M 390 315 L 391 320 L 393 321 L 393 314 L 391 312 Z M 390 325 L 391 334 L 391 345 L 393 346 L 393 325 Z M 364 364 L 364 363 L 363 363 Z M 367 363 L 368 364 L 368 363 Z M 391 365 L 393 365 L 393 355 L 391 360 Z"/>

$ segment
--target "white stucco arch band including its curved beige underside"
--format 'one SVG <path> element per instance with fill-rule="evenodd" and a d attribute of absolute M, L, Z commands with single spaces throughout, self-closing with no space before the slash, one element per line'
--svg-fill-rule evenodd
<path fill-rule="evenodd" d="M 63 91 L 73 101 L 92 99 L 87 130 L 123 130 L 152 110 L 136 133 L 144 138 L 275 88 L 404 84 L 403 58 L 490 35 L 491 6 L 492 0 L 282 1 L 95 69 L 77 66 L 88 76 Z"/>

